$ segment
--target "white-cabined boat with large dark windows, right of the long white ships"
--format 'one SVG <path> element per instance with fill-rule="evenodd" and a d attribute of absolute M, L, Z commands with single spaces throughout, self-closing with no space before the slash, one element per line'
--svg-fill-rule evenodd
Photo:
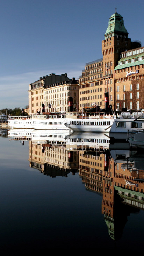
<path fill-rule="evenodd" d="M 136 122 L 136 120 L 139 120 Z M 125 134 L 127 139 L 128 130 L 144 129 L 144 114 L 142 112 L 122 112 L 120 118 L 114 119 L 110 128 L 109 136 L 119 139 L 120 134 Z"/>

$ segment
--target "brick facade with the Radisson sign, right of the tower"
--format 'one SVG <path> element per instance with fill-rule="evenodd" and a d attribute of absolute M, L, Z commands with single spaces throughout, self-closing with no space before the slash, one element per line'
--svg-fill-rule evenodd
<path fill-rule="evenodd" d="M 114 72 L 116 108 L 144 109 L 144 47 L 122 52 Z"/>

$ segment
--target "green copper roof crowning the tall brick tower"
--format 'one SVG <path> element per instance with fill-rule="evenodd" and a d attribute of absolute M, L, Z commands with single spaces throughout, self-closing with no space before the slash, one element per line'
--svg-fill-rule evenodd
<path fill-rule="evenodd" d="M 108 35 L 116 36 L 116 34 L 125 34 L 126 36 L 128 36 L 128 32 L 124 27 L 123 17 L 117 12 L 111 15 L 109 19 L 105 37 Z"/>

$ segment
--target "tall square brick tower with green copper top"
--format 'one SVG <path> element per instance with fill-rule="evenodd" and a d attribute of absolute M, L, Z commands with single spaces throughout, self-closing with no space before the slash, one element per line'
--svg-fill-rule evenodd
<path fill-rule="evenodd" d="M 112 105 L 113 110 L 115 110 L 114 68 L 120 59 L 121 52 L 131 48 L 131 39 L 128 38 L 123 17 L 117 12 L 109 18 L 108 28 L 104 36 L 105 39 L 102 41 L 103 85 L 105 92 L 109 93 L 109 105 Z"/>

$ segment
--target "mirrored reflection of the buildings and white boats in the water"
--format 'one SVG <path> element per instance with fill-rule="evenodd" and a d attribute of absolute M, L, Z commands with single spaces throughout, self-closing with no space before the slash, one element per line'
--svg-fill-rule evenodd
<path fill-rule="evenodd" d="M 144 209 L 144 154 L 108 134 L 15 130 L 10 139 L 29 140 L 31 168 L 50 177 L 79 172 L 85 188 L 103 197 L 109 236 L 120 239 L 130 213 Z"/>

